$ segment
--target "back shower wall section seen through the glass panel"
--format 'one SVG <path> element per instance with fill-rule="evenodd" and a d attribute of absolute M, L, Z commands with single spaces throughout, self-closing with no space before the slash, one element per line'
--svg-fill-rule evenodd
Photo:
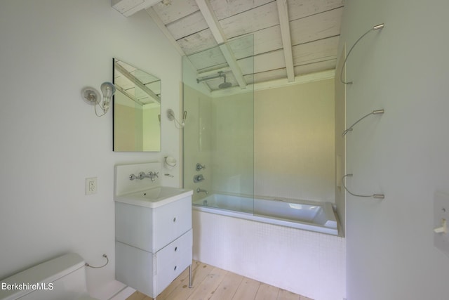
<path fill-rule="evenodd" d="M 254 193 L 253 93 L 213 98 L 213 184 L 218 193 Z"/>

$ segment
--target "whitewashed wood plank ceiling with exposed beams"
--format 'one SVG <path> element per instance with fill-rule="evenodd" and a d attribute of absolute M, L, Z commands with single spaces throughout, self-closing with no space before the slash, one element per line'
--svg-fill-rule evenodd
<path fill-rule="evenodd" d="M 199 78 L 222 71 L 243 89 L 335 69 L 343 1 L 163 0 L 145 10 Z M 214 90 L 222 79 L 206 82 Z"/>

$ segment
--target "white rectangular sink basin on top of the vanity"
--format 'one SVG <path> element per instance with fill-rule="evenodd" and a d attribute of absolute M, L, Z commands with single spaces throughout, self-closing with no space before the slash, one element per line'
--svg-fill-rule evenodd
<path fill-rule="evenodd" d="M 141 207 L 155 208 L 188 197 L 192 194 L 192 190 L 168 186 L 156 186 L 138 192 L 116 196 L 115 201 Z"/>

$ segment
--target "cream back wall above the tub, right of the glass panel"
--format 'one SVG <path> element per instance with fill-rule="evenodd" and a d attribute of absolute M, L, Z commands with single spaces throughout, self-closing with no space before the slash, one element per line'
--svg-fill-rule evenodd
<path fill-rule="evenodd" d="M 334 80 L 255 91 L 255 195 L 335 202 Z"/>

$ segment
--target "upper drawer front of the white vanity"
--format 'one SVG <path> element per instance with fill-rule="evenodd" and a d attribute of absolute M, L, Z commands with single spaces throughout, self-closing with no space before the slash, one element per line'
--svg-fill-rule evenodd
<path fill-rule="evenodd" d="M 192 228 L 191 197 L 158 207 L 154 218 L 155 244 L 153 252 L 156 252 Z"/>

